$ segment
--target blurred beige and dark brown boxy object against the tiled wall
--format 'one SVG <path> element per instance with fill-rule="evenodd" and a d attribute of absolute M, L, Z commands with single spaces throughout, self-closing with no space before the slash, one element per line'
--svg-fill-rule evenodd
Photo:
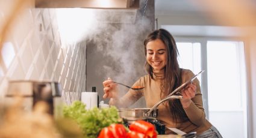
<path fill-rule="evenodd" d="M 23 97 L 23 109 L 31 112 L 39 101 L 48 104 L 50 115 L 61 116 L 61 86 L 57 82 L 37 82 L 30 80 L 10 81 L 5 103 L 12 104 L 15 96 Z"/>

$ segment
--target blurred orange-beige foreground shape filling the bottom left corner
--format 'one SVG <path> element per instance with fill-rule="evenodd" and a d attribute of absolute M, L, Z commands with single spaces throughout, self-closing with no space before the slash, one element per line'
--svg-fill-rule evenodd
<path fill-rule="evenodd" d="M 34 112 L 24 112 L 21 104 L 22 98 L 16 97 L 16 103 L 6 110 L 0 125 L 0 137 L 61 137 L 52 116 L 45 112 L 47 103 L 36 103 Z"/>

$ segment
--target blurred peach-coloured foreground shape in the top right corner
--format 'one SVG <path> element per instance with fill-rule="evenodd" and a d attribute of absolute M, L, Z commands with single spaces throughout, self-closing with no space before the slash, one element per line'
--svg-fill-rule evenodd
<path fill-rule="evenodd" d="M 251 35 L 255 36 L 255 29 L 252 28 L 256 26 L 256 7 L 253 1 L 192 1 L 204 8 L 207 15 L 215 19 L 221 25 L 241 27 L 244 31 L 243 34 L 246 35 L 245 37 L 252 37 Z"/>

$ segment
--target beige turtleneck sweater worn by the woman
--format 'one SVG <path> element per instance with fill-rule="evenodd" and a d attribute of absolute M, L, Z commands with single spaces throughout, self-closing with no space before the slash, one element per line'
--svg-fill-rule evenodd
<path fill-rule="evenodd" d="M 159 76 L 157 74 L 156 76 Z M 155 80 L 153 80 L 149 75 L 140 77 L 133 86 L 145 86 L 144 89 L 140 91 L 133 91 L 130 89 L 119 101 L 120 105 L 128 107 L 135 103 L 139 98 L 145 97 L 146 106 L 152 107 L 155 103 L 161 100 L 160 98 L 160 82 L 161 80 L 158 77 L 154 76 Z M 182 72 L 182 80 L 183 83 L 190 79 L 194 74 L 190 70 L 183 69 Z M 173 122 L 172 114 L 170 113 L 170 109 L 163 104 L 158 106 L 158 117 L 166 127 L 178 128 L 181 131 L 186 133 L 196 131 L 197 134 L 201 134 L 205 130 L 208 130 L 211 127 L 210 122 L 205 118 L 204 107 L 202 103 L 202 94 L 201 88 L 199 85 L 198 79 L 195 79 L 193 82 L 196 85 L 196 95 L 192 98 L 193 103 L 190 104 L 189 107 L 184 109 L 187 116 L 189 117 L 189 121 L 186 122 Z M 172 131 L 166 130 L 166 133 L 173 133 Z"/>

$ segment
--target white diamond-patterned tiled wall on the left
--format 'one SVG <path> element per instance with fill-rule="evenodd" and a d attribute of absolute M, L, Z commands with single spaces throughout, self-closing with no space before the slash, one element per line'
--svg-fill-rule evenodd
<path fill-rule="evenodd" d="M 0 28 L 13 1 L 0 1 Z M 86 87 L 86 44 L 61 43 L 54 9 L 27 8 L 19 13 L 1 50 L 0 95 L 8 80 L 50 80 L 63 88 L 67 104 Z M 1 100 L 1 99 L 0 99 Z"/>

